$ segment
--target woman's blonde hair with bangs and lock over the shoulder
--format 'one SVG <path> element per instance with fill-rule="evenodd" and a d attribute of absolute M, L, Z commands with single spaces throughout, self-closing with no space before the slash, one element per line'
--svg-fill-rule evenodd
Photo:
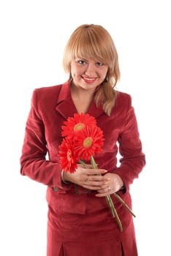
<path fill-rule="evenodd" d="M 108 66 L 107 79 L 96 91 L 94 101 L 96 106 L 102 104 L 104 112 L 110 116 L 117 96 L 115 86 L 120 78 L 120 70 L 118 53 L 108 31 L 94 24 L 83 24 L 77 27 L 64 50 L 63 67 L 66 73 L 70 74 L 71 61 L 77 57 L 102 61 Z"/>

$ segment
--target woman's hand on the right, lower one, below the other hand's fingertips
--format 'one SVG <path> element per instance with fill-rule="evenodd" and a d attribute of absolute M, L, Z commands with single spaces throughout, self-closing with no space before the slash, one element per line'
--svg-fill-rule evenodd
<path fill-rule="evenodd" d="M 118 174 L 106 173 L 104 178 L 107 178 L 108 182 L 97 190 L 98 194 L 96 194 L 96 197 L 104 197 L 106 195 L 113 194 L 123 187 L 123 181 Z"/>

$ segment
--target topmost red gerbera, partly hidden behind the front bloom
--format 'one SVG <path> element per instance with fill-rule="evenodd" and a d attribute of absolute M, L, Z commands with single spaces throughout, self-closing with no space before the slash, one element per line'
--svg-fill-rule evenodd
<path fill-rule="evenodd" d="M 74 117 L 69 117 L 67 121 L 64 121 L 64 126 L 61 127 L 63 129 L 61 135 L 63 137 L 72 137 L 77 132 L 80 132 L 81 129 L 85 128 L 86 125 L 88 125 L 88 127 L 96 125 L 96 119 L 88 114 L 75 113 Z"/>

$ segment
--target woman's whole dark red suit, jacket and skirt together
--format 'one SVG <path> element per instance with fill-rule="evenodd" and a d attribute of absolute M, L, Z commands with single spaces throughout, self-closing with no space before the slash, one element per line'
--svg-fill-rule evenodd
<path fill-rule="evenodd" d="M 113 203 L 123 224 L 122 233 L 111 217 L 105 197 L 95 197 L 95 192 L 79 186 L 75 190 L 74 184 L 61 181 L 61 125 L 77 113 L 69 86 L 67 81 L 34 90 L 20 157 L 20 173 L 47 185 L 47 256 L 137 256 L 132 215 L 115 197 Z M 145 165 L 132 98 L 118 91 L 110 116 L 96 108 L 94 102 L 87 113 L 96 118 L 104 132 L 103 151 L 95 157 L 96 163 L 121 176 L 126 189 L 119 195 L 132 208 L 129 186 Z M 119 166 L 118 149 L 122 157 Z"/>

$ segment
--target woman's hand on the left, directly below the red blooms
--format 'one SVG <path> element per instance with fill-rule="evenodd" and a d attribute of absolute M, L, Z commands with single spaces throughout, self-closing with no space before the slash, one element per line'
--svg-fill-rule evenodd
<path fill-rule="evenodd" d="M 99 190 L 102 187 L 107 187 L 108 177 L 99 175 L 107 173 L 107 170 L 93 169 L 91 165 L 89 167 L 85 168 L 83 165 L 77 165 L 75 173 L 63 173 L 64 180 L 91 190 Z"/>

